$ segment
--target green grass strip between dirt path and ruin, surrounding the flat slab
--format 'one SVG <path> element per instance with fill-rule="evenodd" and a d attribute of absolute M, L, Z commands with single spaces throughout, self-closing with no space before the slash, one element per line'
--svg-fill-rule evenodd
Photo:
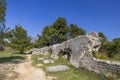
<path fill-rule="evenodd" d="M 37 61 L 37 58 L 40 57 L 46 57 L 49 58 L 48 55 L 43 56 L 43 55 L 33 55 L 32 59 L 33 59 L 33 65 L 37 65 L 37 64 L 43 64 L 42 61 Z M 54 65 L 67 65 L 70 67 L 70 70 L 68 71 L 63 71 L 63 72 L 53 72 L 53 73 L 49 73 L 45 70 L 46 67 L 48 66 L 54 66 Z M 71 66 L 68 61 L 61 57 L 58 60 L 55 60 L 55 63 L 53 64 L 43 64 L 44 66 L 42 66 L 41 68 L 43 68 L 46 72 L 47 76 L 53 76 L 56 77 L 57 79 L 55 80 L 107 80 L 107 78 L 103 75 L 103 74 L 97 74 L 95 72 L 83 69 L 83 68 L 75 68 L 73 66 Z"/>

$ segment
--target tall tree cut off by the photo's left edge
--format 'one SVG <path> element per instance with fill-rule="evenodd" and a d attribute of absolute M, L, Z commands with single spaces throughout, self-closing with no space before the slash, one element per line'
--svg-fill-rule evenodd
<path fill-rule="evenodd" d="M 0 0 L 0 45 L 4 44 L 6 0 Z"/>

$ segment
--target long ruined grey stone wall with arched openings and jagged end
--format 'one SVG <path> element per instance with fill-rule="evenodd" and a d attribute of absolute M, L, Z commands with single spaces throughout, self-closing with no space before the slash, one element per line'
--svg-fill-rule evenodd
<path fill-rule="evenodd" d="M 51 58 L 59 59 L 62 51 L 68 56 L 69 62 L 75 67 L 84 67 L 95 72 L 120 72 L 120 63 L 99 60 L 92 56 L 92 51 L 98 51 L 101 46 L 100 38 L 95 32 L 78 36 L 61 44 L 31 50 L 34 53 L 52 53 Z"/>

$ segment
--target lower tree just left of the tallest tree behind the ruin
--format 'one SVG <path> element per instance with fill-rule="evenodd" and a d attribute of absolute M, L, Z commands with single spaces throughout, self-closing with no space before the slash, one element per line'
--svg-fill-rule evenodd
<path fill-rule="evenodd" d="M 57 43 L 57 30 L 53 28 L 53 26 L 46 26 L 43 31 L 42 35 L 38 35 L 38 39 L 36 40 L 36 45 L 38 47 L 44 47 L 46 45 L 53 45 Z"/>

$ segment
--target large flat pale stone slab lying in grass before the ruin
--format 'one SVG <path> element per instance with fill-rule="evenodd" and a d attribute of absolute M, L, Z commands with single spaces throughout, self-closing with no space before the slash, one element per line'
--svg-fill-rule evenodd
<path fill-rule="evenodd" d="M 70 68 L 67 67 L 66 65 L 58 65 L 58 66 L 50 66 L 46 67 L 46 70 L 48 72 L 58 72 L 58 71 L 66 71 L 69 70 Z"/>

